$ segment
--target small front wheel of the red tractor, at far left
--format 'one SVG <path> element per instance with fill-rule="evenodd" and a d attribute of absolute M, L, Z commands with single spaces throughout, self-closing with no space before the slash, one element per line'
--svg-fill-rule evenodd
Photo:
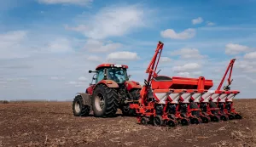
<path fill-rule="evenodd" d="M 73 115 L 74 116 L 89 116 L 90 106 L 84 105 L 84 101 L 81 95 L 77 95 L 73 99 Z"/>

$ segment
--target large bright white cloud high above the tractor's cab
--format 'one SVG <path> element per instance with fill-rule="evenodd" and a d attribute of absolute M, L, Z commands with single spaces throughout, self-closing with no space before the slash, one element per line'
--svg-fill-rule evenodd
<path fill-rule="evenodd" d="M 79 18 L 81 19 L 81 18 Z M 85 37 L 104 39 L 122 37 L 136 28 L 146 27 L 148 11 L 134 6 L 110 6 L 102 8 L 96 15 L 86 16 L 86 21 L 77 27 L 67 29 L 79 31 Z"/>

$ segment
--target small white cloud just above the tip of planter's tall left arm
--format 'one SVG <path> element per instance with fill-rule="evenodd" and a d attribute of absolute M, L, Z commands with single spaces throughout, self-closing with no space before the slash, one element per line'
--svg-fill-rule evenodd
<path fill-rule="evenodd" d="M 177 33 L 172 29 L 167 29 L 165 31 L 160 31 L 161 37 L 172 38 L 172 39 L 189 39 L 195 37 L 195 29 L 186 29 L 182 32 Z"/>

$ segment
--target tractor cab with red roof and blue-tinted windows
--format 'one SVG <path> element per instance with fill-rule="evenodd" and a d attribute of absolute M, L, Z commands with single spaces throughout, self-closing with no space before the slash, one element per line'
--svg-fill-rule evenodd
<path fill-rule="evenodd" d="M 113 80 L 118 84 L 124 83 L 125 81 L 129 81 L 131 75 L 127 75 L 126 69 L 127 65 L 116 65 L 116 64 L 102 64 L 96 67 L 96 74 L 92 77 L 92 82 L 90 85 L 95 85 L 96 83 L 102 80 Z"/>

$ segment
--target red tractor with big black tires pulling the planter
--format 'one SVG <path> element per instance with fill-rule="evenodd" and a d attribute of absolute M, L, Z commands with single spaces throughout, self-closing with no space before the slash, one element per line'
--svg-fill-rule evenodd
<path fill-rule="evenodd" d="M 112 117 L 118 109 L 124 116 L 133 116 L 136 111 L 130 108 L 137 104 L 142 86 L 129 81 L 127 65 L 102 64 L 96 67 L 90 87 L 85 93 L 78 93 L 73 99 L 73 115 L 89 116 L 93 110 L 96 117 Z"/>

